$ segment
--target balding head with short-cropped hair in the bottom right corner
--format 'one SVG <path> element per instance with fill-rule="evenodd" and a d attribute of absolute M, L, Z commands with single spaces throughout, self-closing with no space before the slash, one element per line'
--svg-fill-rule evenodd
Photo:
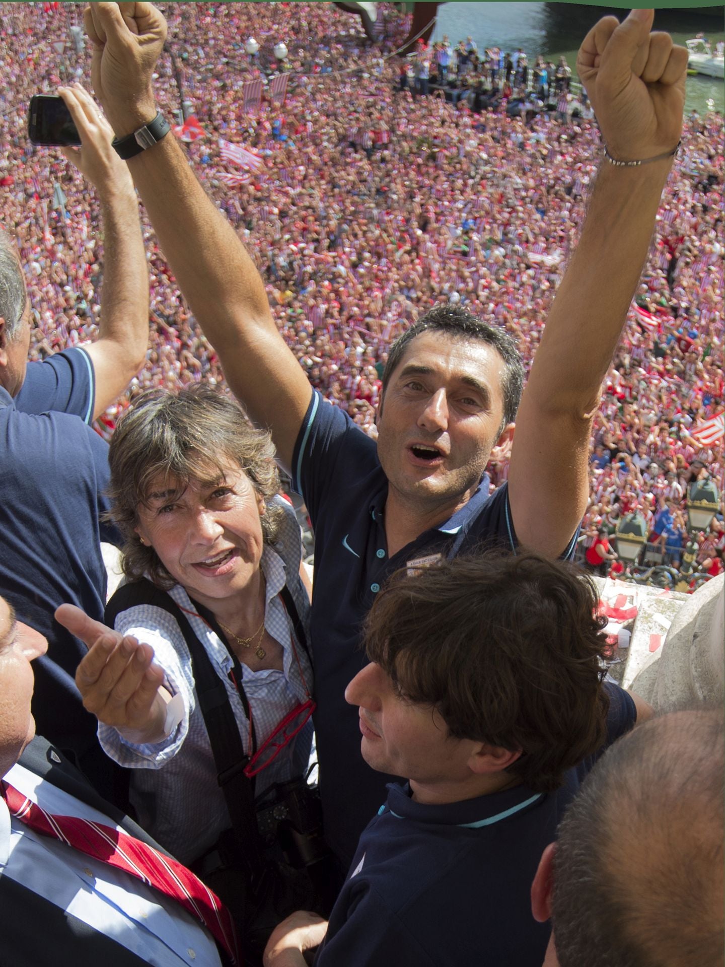
<path fill-rule="evenodd" d="M 560 829 L 561 967 L 723 964 L 724 715 L 677 712 L 603 756 Z"/>

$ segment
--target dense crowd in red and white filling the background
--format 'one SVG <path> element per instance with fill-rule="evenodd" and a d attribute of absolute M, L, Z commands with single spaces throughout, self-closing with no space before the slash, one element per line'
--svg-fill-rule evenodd
<path fill-rule="evenodd" d="M 188 99 L 205 132 L 188 145 L 193 166 L 253 253 L 313 385 L 374 435 L 391 339 L 447 303 L 505 326 L 529 366 L 598 165 L 594 122 L 540 113 L 525 124 L 505 102 L 475 114 L 467 103 L 415 98 L 400 90 L 400 59 L 381 56 L 358 19 L 332 5 L 179 4 L 165 13 L 174 56 L 160 63 L 161 106 L 171 115 Z M 384 49 L 405 32 L 402 17 L 387 17 Z M 28 281 L 32 354 L 43 358 L 95 335 L 102 239 L 93 191 L 59 152 L 28 143 L 27 104 L 75 77 L 90 87 L 89 51 L 75 54 L 70 42 L 80 5 L 8 5 L 0 19 L 0 215 Z M 244 49 L 252 34 L 254 63 Z M 275 68 L 280 40 L 286 100 L 275 108 L 265 97 L 246 114 L 243 85 Z M 685 120 L 636 297 L 644 312 L 630 313 L 595 421 L 587 527 L 611 527 L 635 507 L 654 527 L 668 500 L 683 523 L 691 479 L 710 474 L 722 488 L 722 441 L 704 447 L 690 433 L 723 409 L 721 128 L 716 114 Z M 220 160 L 219 137 L 263 159 L 246 185 L 218 177 L 240 170 Z M 152 326 L 135 386 L 222 382 L 148 226 L 144 234 Z M 100 431 L 112 431 L 124 405 Z M 492 486 L 505 480 L 506 461 L 489 474 Z"/>

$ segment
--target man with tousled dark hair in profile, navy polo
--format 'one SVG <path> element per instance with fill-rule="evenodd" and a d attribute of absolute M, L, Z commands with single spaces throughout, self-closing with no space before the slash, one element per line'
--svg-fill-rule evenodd
<path fill-rule="evenodd" d="M 400 571 L 365 628 L 362 757 L 408 777 L 362 833 L 330 922 L 298 911 L 267 967 L 540 967 L 542 849 L 594 760 L 652 709 L 603 682 L 604 621 L 569 565 L 494 552 Z M 580 961 L 585 963 L 585 961 Z"/>

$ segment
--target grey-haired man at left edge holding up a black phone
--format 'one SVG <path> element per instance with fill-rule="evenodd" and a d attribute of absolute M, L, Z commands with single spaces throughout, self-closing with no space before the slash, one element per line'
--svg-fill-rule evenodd
<path fill-rule="evenodd" d="M 106 572 L 108 445 L 90 426 L 143 364 L 149 339 L 149 278 L 129 171 L 108 124 L 78 85 L 61 88 L 81 140 L 64 148 L 96 189 L 103 284 L 99 336 L 89 345 L 28 363 L 31 306 L 16 245 L 0 231 L 0 587 L 17 612 L 52 641 L 38 659 L 34 712 L 43 734 L 73 751 L 105 795 L 110 760 L 96 739 L 73 675 L 85 649 L 53 621 L 61 601 L 102 618 Z"/>

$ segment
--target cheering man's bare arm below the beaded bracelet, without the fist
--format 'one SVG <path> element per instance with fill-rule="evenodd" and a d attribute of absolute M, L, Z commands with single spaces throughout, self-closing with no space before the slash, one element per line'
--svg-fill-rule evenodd
<path fill-rule="evenodd" d="M 516 533 L 558 556 L 587 506 L 601 383 L 642 272 L 670 162 L 603 166 L 516 417 L 508 491 Z"/>

